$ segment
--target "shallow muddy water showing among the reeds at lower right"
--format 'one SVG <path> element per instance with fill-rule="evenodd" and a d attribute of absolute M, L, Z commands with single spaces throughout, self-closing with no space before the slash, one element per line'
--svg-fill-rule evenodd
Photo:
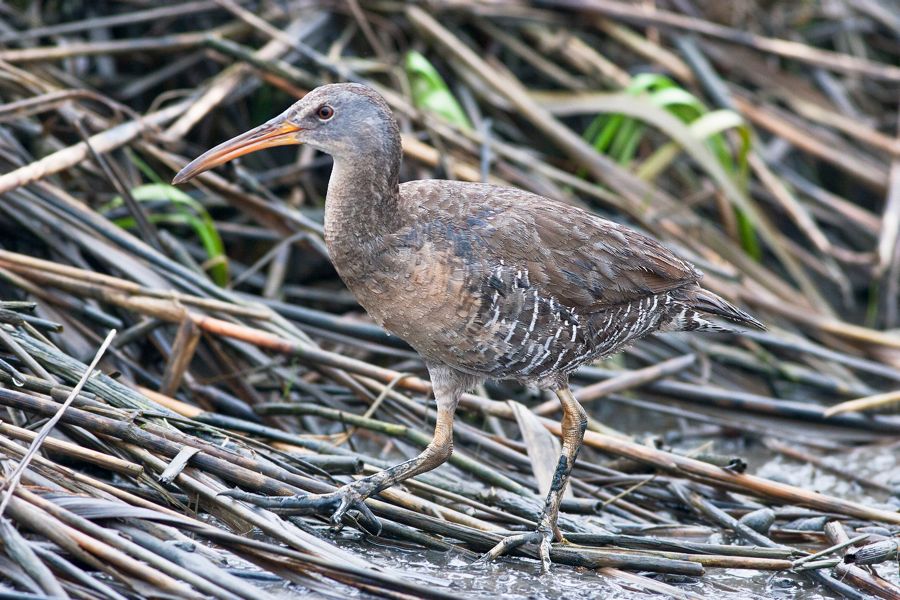
<path fill-rule="evenodd" d="M 601 410 L 601 413 L 606 411 Z M 642 414 L 638 414 L 638 413 Z M 603 415 L 604 422 L 623 431 L 635 433 L 641 427 L 650 427 L 647 434 L 672 430 L 676 425 L 666 419 L 648 420 L 649 415 L 634 409 L 617 410 L 615 416 Z M 691 440 L 690 445 L 699 445 Z M 745 446 L 741 439 L 716 443 L 716 451 L 740 455 L 748 463 L 749 473 L 791 483 L 805 489 L 817 490 L 841 498 L 865 502 L 873 506 L 897 510 L 884 494 L 873 494 L 858 484 L 822 471 L 812 465 L 800 463 L 770 452 L 759 444 Z M 900 485 L 900 446 L 863 446 L 842 453 L 840 457 L 826 457 L 842 468 L 879 483 Z M 469 558 L 455 553 L 423 550 L 408 545 L 393 544 L 387 540 L 373 541 L 354 531 L 345 530 L 332 534 L 323 528 L 322 535 L 337 545 L 365 556 L 374 564 L 395 570 L 420 584 L 441 587 L 460 598 L 510 598 L 528 600 L 566 599 L 646 599 L 669 598 L 664 594 L 642 590 L 629 582 L 606 577 L 589 569 L 554 565 L 547 576 L 540 575 L 537 561 L 527 558 L 503 558 L 498 563 L 482 567 L 472 566 Z M 692 538 L 693 541 L 722 542 L 720 534 L 709 539 Z M 900 583 L 898 565 L 884 564 L 878 572 Z M 659 577 L 660 581 L 678 590 L 695 594 L 693 597 L 716 600 L 778 599 L 778 600 L 826 600 L 838 598 L 827 589 L 801 575 L 772 573 L 741 569 L 709 568 L 702 578 Z M 339 586 L 340 587 L 340 586 Z M 270 588 L 271 589 L 271 588 Z M 296 586 L 278 586 L 282 598 L 306 596 L 310 590 Z M 336 591 L 336 590 L 335 590 Z M 317 595 L 313 593 L 313 595 Z M 360 592 L 346 588 L 337 593 L 343 597 L 363 597 Z M 326 595 L 321 595 L 326 597 Z"/>

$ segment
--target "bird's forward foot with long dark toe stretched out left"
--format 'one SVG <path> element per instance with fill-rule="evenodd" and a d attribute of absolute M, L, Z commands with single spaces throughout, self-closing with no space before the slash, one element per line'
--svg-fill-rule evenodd
<path fill-rule="evenodd" d="M 348 517 L 351 510 L 359 513 L 356 524 L 373 535 L 381 533 L 381 521 L 366 506 L 366 496 L 352 484 L 338 488 L 328 494 L 306 494 L 304 496 L 264 496 L 251 494 L 242 490 L 228 490 L 219 494 L 235 500 L 248 502 L 260 508 L 277 510 L 282 514 L 310 515 L 331 514 L 331 526 L 340 530 L 344 525 L 344 518 Z"/>

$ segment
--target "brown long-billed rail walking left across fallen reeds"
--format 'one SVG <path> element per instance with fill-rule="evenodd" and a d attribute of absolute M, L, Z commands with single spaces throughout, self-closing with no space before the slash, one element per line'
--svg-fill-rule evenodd
<path fill-rule="evenodd" d="M 378 531 L 365 500 L 450 457 L 461 395 L 486 379 L 519 381 L 559 398 L 561 454 L 536 529 L 502 538 L 482 559 L 537 545 L 546 572 L 551 542 L 563 541 L 559 506 L 587 425 L 570 375 L 656 331 L 731 329 L 716 317 L 764 329 L 703 288 L 693 265 L 589 211 L 486 183 L 401 183 L 397 121 L 384 98 L 362 84 L 308 92 L 190 162 L 173 184 L 291 144 L 333 158 L 324 223 L 331 261 L 369 315 L 421 356 L 437 416 L 432 441 L 411 460 L 328 494 L 240 496 L 256 504 L 332 511 L 337 527 L 355 510 Z"/>

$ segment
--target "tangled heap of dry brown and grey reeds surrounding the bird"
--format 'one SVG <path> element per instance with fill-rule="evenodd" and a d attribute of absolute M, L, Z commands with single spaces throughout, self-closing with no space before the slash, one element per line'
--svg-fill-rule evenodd
<path fill-rule="evenodd" d="M 329 491 L 430 440 L 421 361 L 328 263 L 327 158 L 166 183 L 351 80 L 400 120 L 405 179 L 590 207 L 770 326 L 652 337 L 577 375 L 592 419 L 557 568 L 668 597 L 717 569 L 900 597 L 897 462 L 841 464 L 900 450 L 898 40 L 872 0 L 0 5 L 0 596 L 460 597 L 320 517 L 221 495 Z M 533 527 L 559 425 L 532 396 L 466 395 L 450 464 L 367 502 L 381 536 L 468 559 Z M 603 424 L 634 409 L 681 426 Z M 735 438 L 877 503 L 750 475 L 717 453 Z"/>

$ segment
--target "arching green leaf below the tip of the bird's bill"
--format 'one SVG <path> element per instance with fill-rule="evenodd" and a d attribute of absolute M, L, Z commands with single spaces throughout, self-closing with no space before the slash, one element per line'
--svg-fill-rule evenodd
<path fill-rule="evenodd" d="M 148 215 L 150 222 L 163 225 L 186 225 L 193 229 L 209 257 L 207 269 L 210 277 L 216 285 L 228 284 L 228 258 L 225 254 L 225 244 L 222 243 L 222 237 L 216 230 L 215 222 L 202 204 L 180 189 L 166 183 L 139 185 L 131 190 L 131 195 L 138 202 L 165 202 L 171 212 L 150 213 Z M 121 196 L 116 196 L 102 207 L 101 211 L 109 212 L 123 206 L 124 203 Z M 132 229 L 135 226 L 132 217 L 116 219 L 114 222 L 124 229 Z"/>

